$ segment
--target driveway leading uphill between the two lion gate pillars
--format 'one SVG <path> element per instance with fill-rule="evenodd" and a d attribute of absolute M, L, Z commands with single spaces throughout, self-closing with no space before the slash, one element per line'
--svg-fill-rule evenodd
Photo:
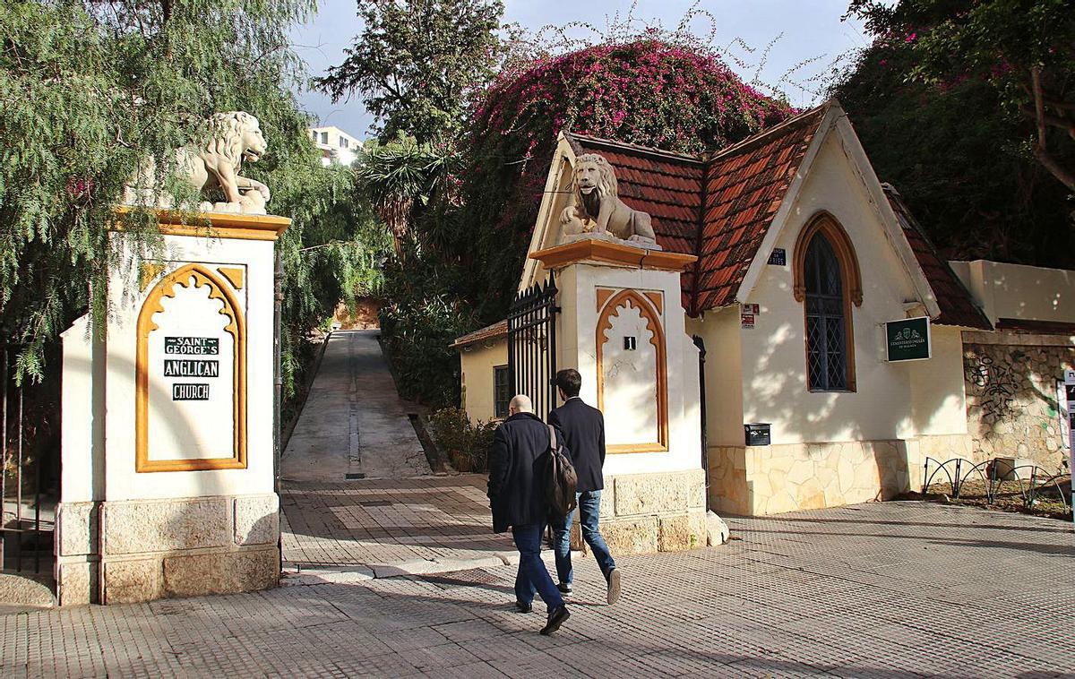
<path fill-rule="evenodd" d="M 283 458 L 284 565 L 378 577 L 502 565 L 485 477 L 434 476 L 377 331 L 333 333 Z"/>

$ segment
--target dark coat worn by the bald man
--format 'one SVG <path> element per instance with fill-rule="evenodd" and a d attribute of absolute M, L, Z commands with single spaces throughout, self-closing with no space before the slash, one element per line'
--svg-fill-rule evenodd
<path fill-rule="evenodd" d="M 545 523 L 548 427 L 536 415 L 517 413 L 497 428 L 489 451 L 489 507 L 492 530 Z"/>

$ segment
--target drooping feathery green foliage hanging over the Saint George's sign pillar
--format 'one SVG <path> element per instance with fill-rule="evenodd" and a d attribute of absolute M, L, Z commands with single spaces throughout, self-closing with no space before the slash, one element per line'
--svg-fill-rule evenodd
<path fill-rule="evenodd" d="M 302 76 L 287 31 L 314 9 L 314 0 L 0 3 L 0 319 L 4 340 L 26 345 L 20 375 L 42 377 L 43 347 L 87 305 L 106 313 L 108 226 L 124 183 L 146 158 L 163 165 L 171 149 L 201 139 L 215 112 L 259 118 L 269 151 L 246 171 L 272 187 L 271 211 L 295 217 L 280 244 L 289 336 L 368 276 L 359 272 L 370 258 L 354 240 L 375 228 L 340 204 L 354 199 L 354 174 L 320 167 L 290 89 Z M 152 256 L 153 215 L 138 217 Z M 347 245 L 300 254 L 328 240 Z M 335 271 L 343 277 L 331 280 Z"/>

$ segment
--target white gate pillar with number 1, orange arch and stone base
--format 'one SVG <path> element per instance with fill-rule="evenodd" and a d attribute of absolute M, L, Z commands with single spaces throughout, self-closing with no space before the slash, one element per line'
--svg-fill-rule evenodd
<path fill-rule="evenodd" d="M 604 413 L 602 532 L 614 552 L 705 546 L 698 348 L 679 273 L 692 255 L 575 240 L 530 255 L 556 271 L 557 367 Z"/>

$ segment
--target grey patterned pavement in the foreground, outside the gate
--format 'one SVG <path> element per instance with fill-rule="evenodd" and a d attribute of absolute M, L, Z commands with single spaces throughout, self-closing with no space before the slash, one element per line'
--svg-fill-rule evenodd
<path fill-rule="evenodd" d="M 719 548 L 591 559 L 551 637 L 513 567 L 0 617 L 0 676 L 1075 676 L 1070 524 L 921 503 L 731 519 Z M 543 608 L 539 606 L 539 608 Z"/>

